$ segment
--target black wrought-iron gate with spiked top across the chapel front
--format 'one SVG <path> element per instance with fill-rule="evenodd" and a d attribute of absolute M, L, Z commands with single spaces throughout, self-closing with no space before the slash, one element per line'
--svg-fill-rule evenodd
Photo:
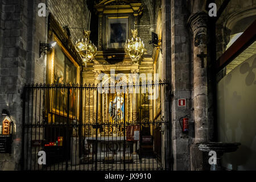
<path fill-rule="evenodd" d="M 24 87 L 23 170 L 169 169 L 171 125 L 162 104 L 166 82 L 99 88 Z M 39 151 L 45 152 L 46 164 L 38 163 L 44 161 Z"/>

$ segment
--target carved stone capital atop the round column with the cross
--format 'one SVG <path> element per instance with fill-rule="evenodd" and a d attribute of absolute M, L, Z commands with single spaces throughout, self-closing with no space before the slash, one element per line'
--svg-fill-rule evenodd
<path fill-rule="evenodd" d="M 191 14 L 188 18 L 188 24 L 193 34 L 195 34 L 198 28 L 207 28 L 208 14 L 204 11 L 200 11 L 195 14 Z"/>

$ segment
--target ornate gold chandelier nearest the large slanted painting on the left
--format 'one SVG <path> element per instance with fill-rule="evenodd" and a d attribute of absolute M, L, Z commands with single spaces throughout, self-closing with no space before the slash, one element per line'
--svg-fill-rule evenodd
<path fill-rule="evenodd" d="M 97 55 L 97 47 L 94 46 L 92 41 L 90 41 L 90 31 L 84 30 L 84 38 L 80 42 L 76 42 L 76 51 L 82 57 L 82 61 L 86 64 L 88 61 L 92 61 L 94 56 Z"/>

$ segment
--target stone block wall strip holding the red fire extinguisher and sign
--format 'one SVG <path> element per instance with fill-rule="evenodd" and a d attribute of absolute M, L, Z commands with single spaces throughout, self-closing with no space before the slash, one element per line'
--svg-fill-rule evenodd
<path fill-rule="evenodd" d="M 179 119 L 189 115 L 193 126 L 192 114 L 192 60 L 188 35 L 188 11 L 186 1 L 171 1 L 171 70 L 172 70 L 172 147 L 174 150 L 174 170 L 189 170 L 189 144 L 192 143 L 193 128 L 183 134 Z M 186 107 L 178 107 L 178 99 L 187 100 Z"/>

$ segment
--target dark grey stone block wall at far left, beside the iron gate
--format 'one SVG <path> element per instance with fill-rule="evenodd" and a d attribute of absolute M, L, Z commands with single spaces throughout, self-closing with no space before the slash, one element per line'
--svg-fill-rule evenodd
<path fill-rule="evenodd" d="M 26 81 L 28 1 L 6 0 L 1 5 L 0 110 L 9 110 L 15 133 L 11 155 L 0 154 L 0 170 L 13 170 L 19 167 L 21 153 L 20 93 Z"/>

